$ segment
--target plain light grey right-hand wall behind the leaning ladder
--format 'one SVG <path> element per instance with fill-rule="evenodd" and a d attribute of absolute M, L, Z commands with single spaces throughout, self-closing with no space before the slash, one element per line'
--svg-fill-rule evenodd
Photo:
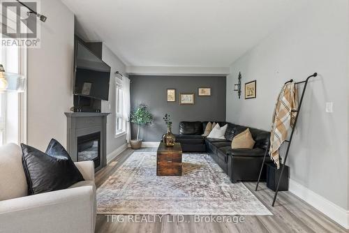
<path fill-rule="evenodd" d="M 290 179 L 349 209 L 348 200 L 348 1 L 316 0 L 269 34 L 231 66 L 227 121 L 270 130 L 276 96 L 291 78 L 309 82 L 288 165 Z M 232 91 L 257 80 L 257 98 Z M 334 112 L 325 112 L 325 103 Z"/>

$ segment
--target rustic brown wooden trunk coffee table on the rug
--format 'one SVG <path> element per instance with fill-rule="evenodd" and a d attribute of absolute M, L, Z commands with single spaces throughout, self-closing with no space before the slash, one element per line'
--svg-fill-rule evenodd
<path fill-rule="evenodd" d="M 157 176 L 181 176 L 181 144 L 166 147 L 163 142 L 158 146 L 156 153 Z"/>

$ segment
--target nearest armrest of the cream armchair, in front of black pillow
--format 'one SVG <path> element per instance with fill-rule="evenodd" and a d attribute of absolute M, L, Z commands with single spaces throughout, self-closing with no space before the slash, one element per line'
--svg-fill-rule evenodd
<path fill-rule="evenodd" d="M 0 232 L 94 232 L 95 186 L 0 202 Z"/>

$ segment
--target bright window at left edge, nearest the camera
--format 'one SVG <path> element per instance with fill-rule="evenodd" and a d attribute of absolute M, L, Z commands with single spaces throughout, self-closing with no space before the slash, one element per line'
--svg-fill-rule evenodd
<path fill-rule="evenodd" d="M 25 74 L 26 51 L 23 48 L 0 45 L 0 64 L 8 73 Z M 26 93 L 5 91 L 0 93 L 0 145 L 20 144 L 26 138 Z"/>

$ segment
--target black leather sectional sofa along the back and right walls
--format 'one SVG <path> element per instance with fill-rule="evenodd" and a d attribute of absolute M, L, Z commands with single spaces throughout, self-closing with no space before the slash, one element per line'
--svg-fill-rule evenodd
<path fill-rule="evenodd" d="M 182 150 L 184 152 L 207 152 L 230 176 L 232 183 L 256 181 L 263 156 L 268 149 L 270 133 L 223 121 L 216 123 L 219 123 L 219 126 L 228 124 L 225 139 L 207 138 L 202 136 L 207 123 L 207 121 L 181 121 L 179 123 L 179 135 L 176 135 L 176 141 L 181 143 Z M 247 128 L 250 129 L 253 140 L 255 140 L 253 149 L 232 149 L 232 139 Z M 267 162 L 272 163 L 269 156 L 267 156 Z M 261 180 L 264 180 L 265 176 L 265 171 L 263 171 Z"/>

